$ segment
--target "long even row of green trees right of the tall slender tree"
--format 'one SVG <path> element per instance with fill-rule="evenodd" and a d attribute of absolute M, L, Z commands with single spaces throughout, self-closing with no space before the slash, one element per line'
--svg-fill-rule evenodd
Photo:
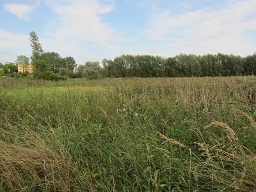
<path fill-rule="evenodd" d="M 114 60 L 86 62 L 79 77 L 202 77 L 255 75 L 256 53 L 245 58 L 233 54 L 179 54 L 170 58 L 122 55 Z"/>

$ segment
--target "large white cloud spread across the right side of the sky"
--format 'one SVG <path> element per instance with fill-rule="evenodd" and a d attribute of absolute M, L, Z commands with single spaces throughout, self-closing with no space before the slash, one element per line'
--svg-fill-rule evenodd
<path fill-rule="evenodd" d="M 163 43 L 152 47 L 156 54 L 180 52 L 205 54 L 227 52 L 250 54 L 255 49 L 247 29 L 256 29 L 256 1 L 238 1 L 226 4 L 219 10 L 204 8 L 174 15 L 170 11 L 152 15 L 148 29 L 149 40 Z"/>

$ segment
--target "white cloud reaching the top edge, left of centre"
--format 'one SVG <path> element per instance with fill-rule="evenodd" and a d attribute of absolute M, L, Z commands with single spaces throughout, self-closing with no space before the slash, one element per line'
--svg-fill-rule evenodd
<path fill-rule="evenodd" d="M 100 15 L 111 12 L 113 3 L 102 5 L 97 0 L 47 1 L 58 14 L 54 20 L 56 29 L 50 32 L 54 38 L 79 42 L 107 42 L 118 34 L 104 23 Z"/>

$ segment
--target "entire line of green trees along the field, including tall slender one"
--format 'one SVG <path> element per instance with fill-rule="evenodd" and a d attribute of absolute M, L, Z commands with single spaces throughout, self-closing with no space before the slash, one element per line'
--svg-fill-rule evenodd
<path fill-rule="evenodd" d="M 44 52 L 34 31 L 30 33 L 31 65 L 33 76 L 58 80 L 63 77 L 204 77 L 248 76 L 256 74 L 256 52 L 241 57 L 234 54 L 179 54 L 170 58 L 151 55 L 122 55 L 113 60 L 88 61 L 74 68 L 76 61 L 71 56 L 61 58 L 57 52 Z M 29 58 L 18 56 L 16 63 L 29 65 Z M 13 70 L 13 69 L 12 69 Z M 12 71 L 10 70 L 10 71 Z M 7 71 L 7 70 L 5 70 Z M 24 72 L 24 71 L 23 71 Z"/>

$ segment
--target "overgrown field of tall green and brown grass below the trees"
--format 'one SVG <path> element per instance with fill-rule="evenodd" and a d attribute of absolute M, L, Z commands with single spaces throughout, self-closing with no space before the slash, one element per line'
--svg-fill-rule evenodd
<path fill-rule="evenodd" d="M 256 77 L 0 78 L 0 191 L 256 191 Z"/>

